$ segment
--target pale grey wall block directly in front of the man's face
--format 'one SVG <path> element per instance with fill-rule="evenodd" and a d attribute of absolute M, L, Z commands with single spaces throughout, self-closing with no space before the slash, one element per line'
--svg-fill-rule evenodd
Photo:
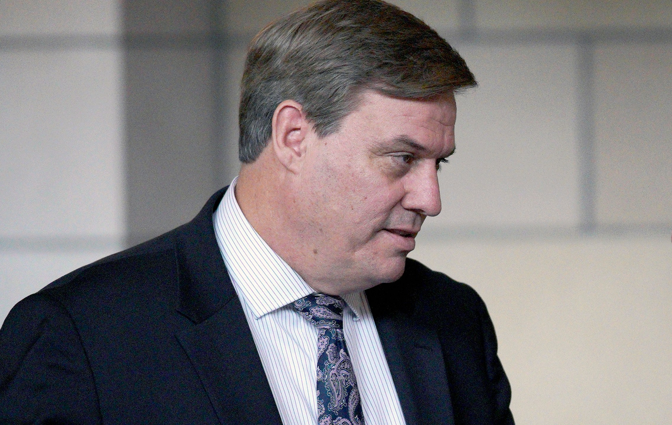
<path fill-rule="evenodd" d="M 480 86 L 458 95 L 456 153 L 429 228 L 574 226 L 579 214 L 575 51 L 460 49 Z"/>

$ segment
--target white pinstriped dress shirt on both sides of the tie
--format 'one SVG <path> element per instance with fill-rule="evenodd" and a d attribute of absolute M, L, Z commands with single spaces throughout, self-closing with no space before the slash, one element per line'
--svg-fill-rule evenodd
<path fill-rule="evenodd" d="M 224 193 L 214 230 L 243 305 L 284 425 L 317 424 L 317 328 L 290 305 L 313 289 L 263 241 L 235 199 Z M 343 332 L 357 377 L 366 425 L 405 424 L 376 324 L 362 292 L 343 297 Z"/>

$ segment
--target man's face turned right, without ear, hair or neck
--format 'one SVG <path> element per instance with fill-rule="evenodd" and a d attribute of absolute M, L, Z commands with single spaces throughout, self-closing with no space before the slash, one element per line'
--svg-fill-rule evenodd
<path fill-rule="evenodd" d="M 339 131 L 308 134 L 295 211 L 317 274 L 340 293 L 401 277 L 426 216 L 441 211 L 437 169 L 455 148 L 455 99 L 362 93 Z M 310 283 L 310 282 L 309 282 Z"/>

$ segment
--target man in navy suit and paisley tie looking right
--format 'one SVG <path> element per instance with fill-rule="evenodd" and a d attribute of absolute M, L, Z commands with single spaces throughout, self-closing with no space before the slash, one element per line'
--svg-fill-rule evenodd
<path fill-rule="evenodd" d="M 241 173 L 190 223 L 21 301 L 0 419 L 513 424 L 478 295 L 408 260 L 439 214 L 464 60 L 377 0 L 253 40 Z"/>

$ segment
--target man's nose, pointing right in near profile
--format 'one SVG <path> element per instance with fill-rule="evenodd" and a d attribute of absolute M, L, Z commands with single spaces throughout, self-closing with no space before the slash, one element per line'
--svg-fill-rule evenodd
<path fill-rule="evenodd" d="M 439 178 L 435 165 L 423 167 L 406 176 L 406 195 L 401 205 L 424 216 L 437 216 L 441 212 Z"/>

